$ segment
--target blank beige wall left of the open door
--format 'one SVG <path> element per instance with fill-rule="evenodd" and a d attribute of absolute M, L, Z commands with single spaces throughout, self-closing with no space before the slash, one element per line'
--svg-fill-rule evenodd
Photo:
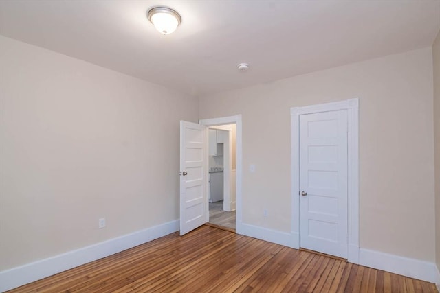
<path fill-rule="evenodd" d="M 2 36 L 0 64 L 0 271 L 179 218 L 197 99 Z"/>

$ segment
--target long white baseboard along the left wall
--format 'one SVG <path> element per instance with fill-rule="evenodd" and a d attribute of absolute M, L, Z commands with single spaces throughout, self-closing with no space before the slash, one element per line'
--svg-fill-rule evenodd
<path fill-rule="evenodd" d="M 21 285 L 52 276 L 76 266 L 102 259 L 122 250 L 149 242 L 159 237 L 179 231 L 179 220 L 174 220 L 135 233 L 109 239 L 72 250 L 61 255 L 35 261 L 10 270 L 0 272 L 0 292 L 17 288 Z"/>

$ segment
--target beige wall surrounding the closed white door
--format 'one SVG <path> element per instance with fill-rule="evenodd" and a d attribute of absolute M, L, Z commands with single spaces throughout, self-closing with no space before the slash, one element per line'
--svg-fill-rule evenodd
<path fill-rule="evenodd" d="M 243 115 L 243 222 L 289 233 L 289 109 L 358 97 L 360 246 L 434 262 L 432 87 L 426 48 L 204 96 L 199 115 Z"/>

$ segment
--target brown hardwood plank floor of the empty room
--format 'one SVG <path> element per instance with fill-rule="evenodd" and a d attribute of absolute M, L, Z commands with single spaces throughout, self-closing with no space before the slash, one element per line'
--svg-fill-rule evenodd
<path fill-rule="evenodd" d="M 437 292 L 435 285 L 201 226 L 10 292 Z"/>

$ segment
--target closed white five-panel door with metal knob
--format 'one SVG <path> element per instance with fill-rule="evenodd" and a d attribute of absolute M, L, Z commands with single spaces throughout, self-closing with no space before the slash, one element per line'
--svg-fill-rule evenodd
<path fill-rule="evenodd" d="M 347 258 L 347 110 L 300 115 L 300 190 L 301 247 Z"/>

